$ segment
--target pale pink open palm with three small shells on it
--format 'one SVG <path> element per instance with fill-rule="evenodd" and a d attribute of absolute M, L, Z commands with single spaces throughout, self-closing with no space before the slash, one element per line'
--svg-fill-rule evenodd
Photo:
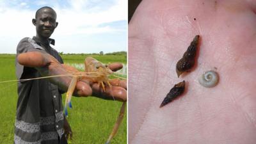
<path fill-rule="evenodd" d="M 143 0 L 129 23 L 129 143 L 255 143 L 255 1 Z M 197 63 L 175 66 L 195 35 Z M 143 67 L 141 67 L 143 65 Z M 198 77 L 215 70 L 205 88 Z M 174 84 L 183 95 L 163 108 Z"/>

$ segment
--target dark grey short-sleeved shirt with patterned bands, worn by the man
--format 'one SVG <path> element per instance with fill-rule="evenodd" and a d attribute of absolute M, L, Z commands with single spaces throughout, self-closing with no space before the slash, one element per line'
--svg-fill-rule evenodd
<path fill-rule="evenodd" d="M 50 44 L 54 40 L 40 42 L 35 36 L 23 38 L 17 46 L 17 55 L 29 51 L 47 52 L 63 63 Z M 41 77 L 36 68 L 24 67 L 17 62 L 17 79 Z M 56 144 L 63 133 L 63 106 L 58 86 L 47 79 L 35 79 L 18 83 L 18 102 L 15 120 L 15 144 Z"/>

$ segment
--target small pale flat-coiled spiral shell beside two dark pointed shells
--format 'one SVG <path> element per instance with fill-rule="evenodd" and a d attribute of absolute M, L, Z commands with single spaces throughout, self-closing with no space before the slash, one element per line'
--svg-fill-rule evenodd
<path fill-rule="evenodd" d="M 204 72 L 204 74 L 198 78 L 198 81 L 205 88 L 212 88 L 218 84 L 219 76 L 217 72 L 210 70 Z"/>

